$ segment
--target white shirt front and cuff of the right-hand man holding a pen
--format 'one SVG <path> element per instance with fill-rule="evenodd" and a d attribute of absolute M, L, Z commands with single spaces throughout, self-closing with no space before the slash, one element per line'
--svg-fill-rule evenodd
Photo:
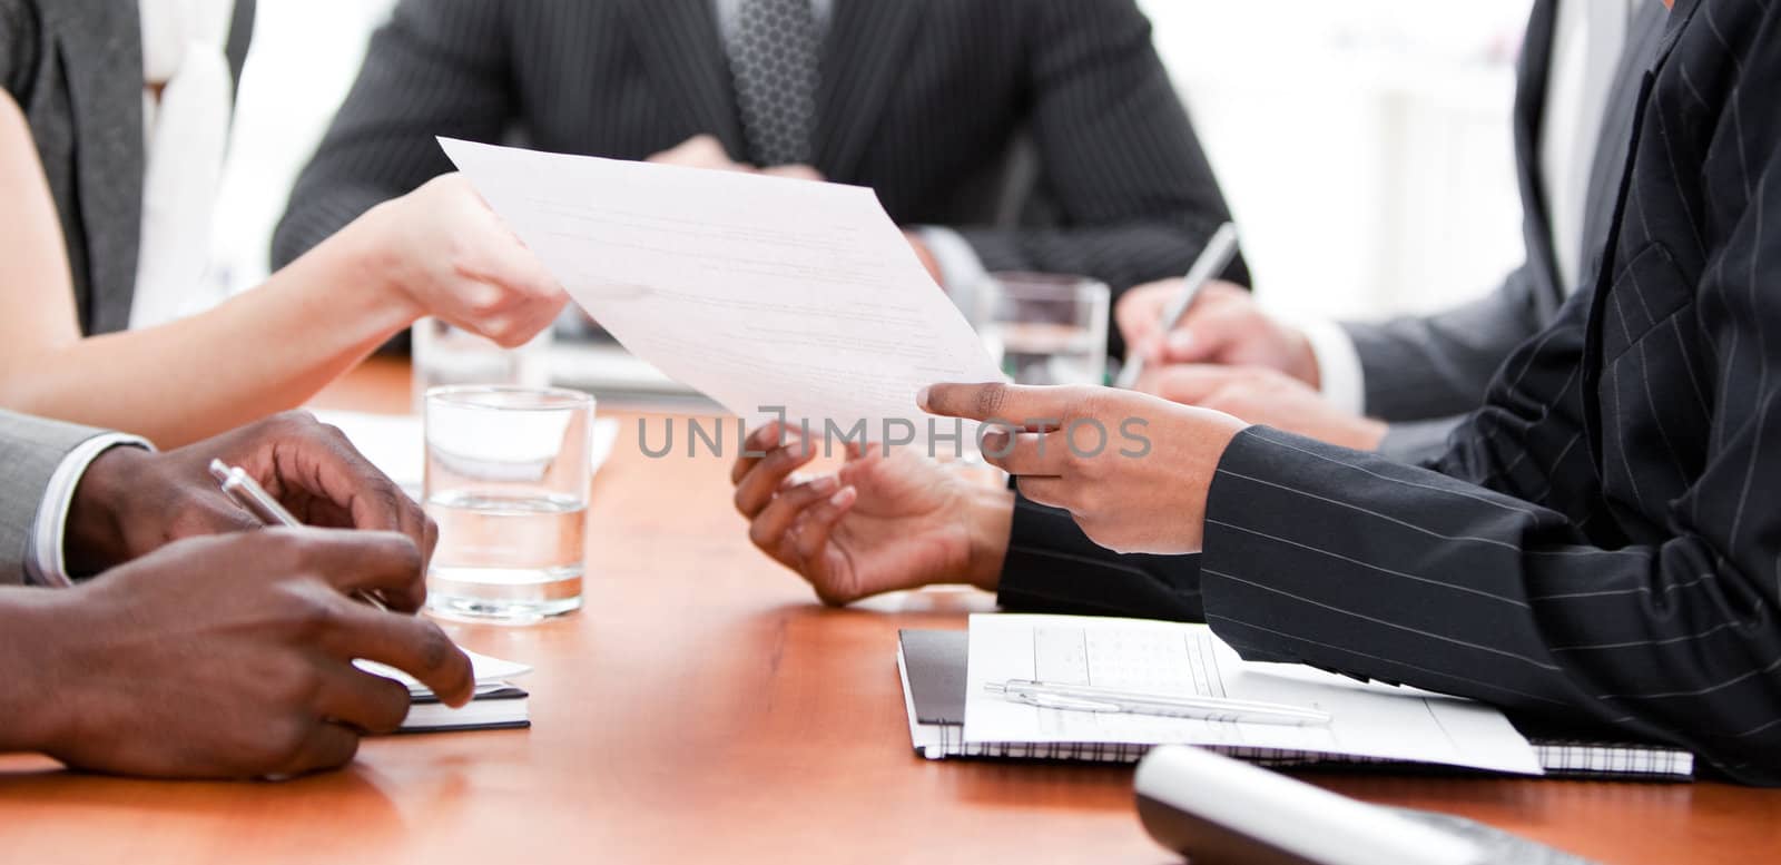
<path fill-rule="evenodd" d="M 1558 258 L 1558 285 L 1569 295 L 1582 281 L 1583 217 L 1601 121 L 1633 12 L 1653 0 L 1560 0 L 1553 25 L 1546 109 L 1541 119 L 1541 194 Z M 1354 340 L 1336 322 L 1304 322 L 1318 360 L 1323 397 L 1366 413 L 1366 379 Z"/>

